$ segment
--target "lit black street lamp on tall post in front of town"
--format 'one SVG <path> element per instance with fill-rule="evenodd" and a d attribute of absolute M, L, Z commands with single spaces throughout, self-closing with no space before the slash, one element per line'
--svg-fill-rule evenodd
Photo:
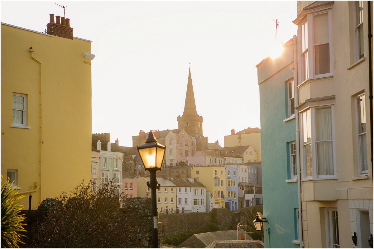
<path fill-rule="evenodd" d="M 156 179 L 156 171 L 161 169 L 162 160 L 165 154 L 165 146 L 159 144 L 152 132 L 149 132 L 148 138 L 145 144 L 137 146 L 140 158 L 144 164 L 145 170 L 150 172 L 150 181 L 147 182 L 147 186 L 151 189 L 151 201 L 152 201 L 152 216 L 153 216 L 153 227 L 152 227 L 152 245 L 153 248 L 158 248 L 158 235 L 157 235 L 157 204 L 156 204 L 156 189 L 160 188 L 160 185 Z"/>

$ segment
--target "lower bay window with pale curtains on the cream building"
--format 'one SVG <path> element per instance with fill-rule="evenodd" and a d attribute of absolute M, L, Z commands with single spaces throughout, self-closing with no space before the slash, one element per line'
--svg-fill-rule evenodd
<path fill-rule="evenodd" d="M 310 108 L 301 114 L 304 179 L 335 177 L 333 106 Z"/>

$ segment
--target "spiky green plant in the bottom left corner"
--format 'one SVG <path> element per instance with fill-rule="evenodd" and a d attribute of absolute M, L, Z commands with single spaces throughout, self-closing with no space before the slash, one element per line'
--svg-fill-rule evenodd
<path fill-rule="evenodd" d="M 1 175 L 1 182 L 3 176 Z M 1 248 L 19 248 L 21 236 L 19 232 L 25 232 L 22 227 L 22 221 L 25 219 L 19 212 L 23 205 L 20 205 L 19 199 L 24 196 L 15 196 L 17 190 L 9 184 L 9 178 L 1 184 Z"/>

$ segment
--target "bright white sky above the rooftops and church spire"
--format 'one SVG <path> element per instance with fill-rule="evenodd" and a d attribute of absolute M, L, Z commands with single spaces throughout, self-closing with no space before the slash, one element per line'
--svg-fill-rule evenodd
<path fill-rule="evenodd" d="M 43 32 L 56 3 L 92 41 L 92 133 L 120 146 L 178 128 L 189 67 L 208 142 L 261 128 L 256 65 L 297 31 L 296 1 L 1 1 L 1 22 Z"/>

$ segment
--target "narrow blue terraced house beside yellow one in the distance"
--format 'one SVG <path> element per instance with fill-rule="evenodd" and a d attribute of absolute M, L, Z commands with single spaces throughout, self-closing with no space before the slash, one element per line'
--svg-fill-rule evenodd
<path fill-rule="evenodd" d="M 238 210 L 238 191 L 237 191 L 237 166 L 224 164 L 226 167 L 226 195 L 225 195 L 225 207 L 229 210 Z"/>

